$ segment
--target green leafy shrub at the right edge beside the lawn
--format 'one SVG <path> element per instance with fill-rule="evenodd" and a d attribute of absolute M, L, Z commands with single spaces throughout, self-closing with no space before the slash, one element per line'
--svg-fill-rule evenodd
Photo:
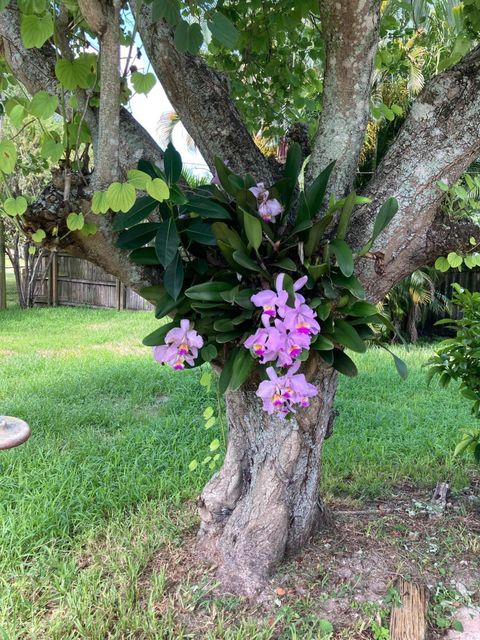
<path fill-rule="evenodd" d="M 429 380 L 439 376 L 440 384 L 446 387 L 451 380 L 460 381 L 460 393 L 473 402 L 472 414 L 480 417 L 480 293 L 471 293 L 459 284 L 453 285 L 453 303 L 459 307 L 461 317 L 439 320 L 456 332 L 454 338 L 443 340 L 430 366 Z M 455 449 L 455 455 L 464 451 L 473 453 L 480 462 L 480 429 L 465 431 Z"/>

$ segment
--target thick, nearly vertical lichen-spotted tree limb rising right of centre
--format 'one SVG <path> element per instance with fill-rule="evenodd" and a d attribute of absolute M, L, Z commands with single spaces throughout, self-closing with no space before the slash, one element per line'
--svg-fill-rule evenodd
<path fill-rule="evenodd" d="M 379 0 L 320 2 L 326 61 L 322 113 L 308 165 L 315 178 L 333 160 L 329 192 L 352 187 L 370 112 L 380 21 Z"/>

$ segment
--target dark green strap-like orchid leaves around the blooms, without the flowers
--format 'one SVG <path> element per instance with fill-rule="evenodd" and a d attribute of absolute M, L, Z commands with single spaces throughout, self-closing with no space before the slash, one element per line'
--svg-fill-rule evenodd
<path fill-rule="evenodd" d="M 355 375 L 355 365 L 343 350 L 365 351 L 365 340 L 372 335 L 368 325 L 382 322 L 382 316 L 363 302 L 365 294 L 353 273 L 354 254 L 348 244 L 343 238 L 327 237 L 325 231 L 337 212 L 340 219 L 345 212 L 349 217 L 355 202 L 364 199 L 353 194 L 325 206 L 330 166 L 311 187 L 300 191 L 304 205 L 295 213 L 290 203 L 298 189 L 301 162 L 300 150 L 293 144 L 284 177 L 268 188 L 281 203 L 282 213 L 266 221 L 251 191 L 255 187 L 251 176 L 236 175 L 217 160 L 218 185 L 184 191 L 177 182 L 180 156 L 173 147 L 167 151 L 165 174 L 145 161 L 131 173 L 135 180 L 139 172 L 157 177 L 144 183 L 149 195 L 140 196 L 114 223 L 123 229 L 118 246 L 131 249 L 132 260 L 165 270 L 163 283 L 144 290 L 144 295 L 156 305 L 157 318 L 174 319 L 147 336 L 145 343 L 161 345 L 166 333 L 178 326 L 178 316 L 189 319 L 205 337 L 196 364 L 216 358 L 220 349 L 223 355 L 218 357 L 224 363 L 220 388 L 238 388 L 257 366 L 250 352 L 239 348 L 260 319 L 250 298 L 273 286 L 279 273 L 291 270 L 308 277 L 310 305 L 322 320 L 314 351 L 328 365 Z M 375 234 L 388 223 L 395 205 L 387 201 L 381 208 Z M 339 229 L 344 235 L 346 228 Z M 284 286 L 293 294 L 292 283 L 285 276 Z"/>

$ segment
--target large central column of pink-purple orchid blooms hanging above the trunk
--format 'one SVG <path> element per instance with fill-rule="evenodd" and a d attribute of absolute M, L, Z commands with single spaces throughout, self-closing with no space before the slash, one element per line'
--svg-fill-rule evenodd
<path fill-rule="evenodd" d="M 295 405 L 308 407 L 309 398 L 317 394 L 314 385 L 303 374 L 297 373 L 297 359 L 304 349 L 309 349 L 311 337 L 320 332 L 316 313 L 297 293 L 307 281 L 304 276 L 294 285 L 293 306 L 288 304 L 288 293 L 283 289 L 285 274 L 276 280 L 276 292 L 261 291 L 251 297 L 256 307 L 263 309 L 263 327 L 247 338 L 244 346 L 260 358 L 260 363 L 275 362 L 277 368 L 287 369 L 279 376 L 274 367 L 268 367 L 268 380 L 260 383 L 257 396 L 263 400 L 263 409 L 269 414 L 285 416 L 294 411 Z M 271 324 L 273 322 L 273 324 Z"/>

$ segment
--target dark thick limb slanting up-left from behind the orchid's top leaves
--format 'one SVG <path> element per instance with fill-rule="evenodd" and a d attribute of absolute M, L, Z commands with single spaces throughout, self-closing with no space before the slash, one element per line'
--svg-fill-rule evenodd
<path fill-rule="evenodd" d="M 268 182 L 275 162 L 263 156 L 229 96 L 228 80 L 198 56 L 180 53 L 172 29 L 152 23 L 149 5 L 135 10 L 145 50 L 175 111 L 213 169 L 215 157 L 233 171 L 251 173 Z"/>

